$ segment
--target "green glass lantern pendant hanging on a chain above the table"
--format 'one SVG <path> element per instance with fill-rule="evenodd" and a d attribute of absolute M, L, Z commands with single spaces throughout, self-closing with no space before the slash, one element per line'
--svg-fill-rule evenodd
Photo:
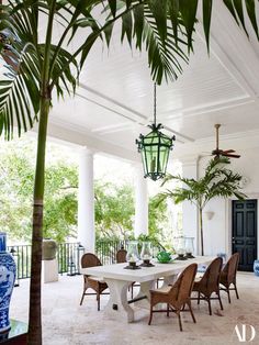
<path fill-rule="evenodd" d="M 154 123 L 149 125 L 151 132 L 147 135 L 139 135 L 136 140 L 138 152 L 142 154 L 144 166 L 144 177 L 150 177 L 154 181 L 164 178 L 167 171 L 167 163 L 170 149 L 172 149 L 172 142 L 176 136 L 167 136 L 159 130 L 162 129 L 161 123 L 157 122 L 156 110 L 156 84 L 154 85 Z"/>

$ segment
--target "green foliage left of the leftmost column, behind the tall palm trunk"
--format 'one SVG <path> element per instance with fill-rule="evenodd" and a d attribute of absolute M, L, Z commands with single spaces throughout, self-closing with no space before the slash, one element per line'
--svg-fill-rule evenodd
<path fill-rule="evenodd" d="M 33 143 L 10 145 L 0 160 L 1 229 L 19 243 L 31 242 L 35 152 Z M 52 146 L 49 151 L 52 151 Z M 77 168 L 58 160 L 46 168 L 43 234 L 57 242 L 76 236 Z"/>

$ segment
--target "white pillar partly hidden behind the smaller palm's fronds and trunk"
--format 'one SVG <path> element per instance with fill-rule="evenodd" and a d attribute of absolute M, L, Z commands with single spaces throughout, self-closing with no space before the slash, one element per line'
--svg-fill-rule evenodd
<path fill-rule="evenodd" d="M 198 178 L 198 157 L 187 157 L 181 159 L 182 176 L 185 178 Z M 182 203 L 182 227 L 183 235 L 187 237 L 194 237 L 194 252 L 200 252 L 199 240 L 199 218 L 196 205 L 190 201 Z"/>

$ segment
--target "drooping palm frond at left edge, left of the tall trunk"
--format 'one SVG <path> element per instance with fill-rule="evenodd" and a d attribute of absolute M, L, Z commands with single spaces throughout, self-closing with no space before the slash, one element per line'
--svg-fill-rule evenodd
<path fill-rule="evenodd" d="M 19 136 L 31 129 L 40 109 L 40 69 L 34 49 L 29 51 L 20 56 L 16 52 L 18 65 L 7 65 L 0 80 L 0 123 L 7 140 L 12 138 L 14 126 Z"/>

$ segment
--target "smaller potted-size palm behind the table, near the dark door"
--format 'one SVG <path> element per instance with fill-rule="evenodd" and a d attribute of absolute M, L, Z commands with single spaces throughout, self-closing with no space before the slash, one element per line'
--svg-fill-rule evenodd
<path fill-rule="evenodd" d="M 201 236 L 201 253 L 204 255 L 203 246 L 203 210 L 207 202 L 213 198 L 230 198 L 236 197 L 244 200 L 246 194 L 240 191 L 239 182 L 241 175 L 234 174 L 226 165 L 230 164 L 229 158 L 218 157 L 209 162 L 205 169 L 205 175 L 200 179 L 184 178 L 181 176 L 168 175 L 162 182 L 162 186 L 172 179 L 185 185 L 177 187 L 173 190 L 166 190 L 158 194 L 159 202 L 170 198 L 174 203 L 191 201 L 199 210 L 200 220 L 200 236 Z"/>

